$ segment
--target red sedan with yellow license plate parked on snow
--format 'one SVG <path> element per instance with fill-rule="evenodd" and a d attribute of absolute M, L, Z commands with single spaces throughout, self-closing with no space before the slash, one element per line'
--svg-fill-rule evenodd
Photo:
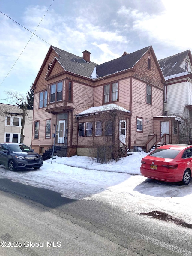
<path fill-rule="evenodd" d="M 192 145 L 167 144 L 141 160 L 141 175 L 188 185 L 192 170 Z"/>

